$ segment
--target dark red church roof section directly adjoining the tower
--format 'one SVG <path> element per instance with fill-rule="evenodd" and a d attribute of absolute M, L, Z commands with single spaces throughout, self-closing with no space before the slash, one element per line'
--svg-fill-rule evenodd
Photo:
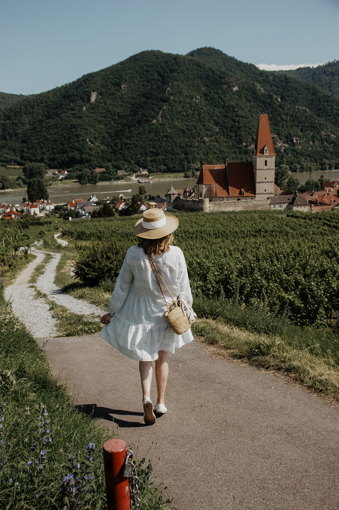
<path fill-rule="evenodd" d="M 253 163 L 239 162 L 228 163 L 227 173 L 229 177 L 230 196 L 256 196 L 256 185 L 254 180 Z"/>

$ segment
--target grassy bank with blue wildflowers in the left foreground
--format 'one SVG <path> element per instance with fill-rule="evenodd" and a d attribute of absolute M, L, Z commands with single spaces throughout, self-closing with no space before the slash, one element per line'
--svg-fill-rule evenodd
<path fill-rule="evenodd" d="M 53 378 L 34 338 L 3 298 L 0 331 L 0 506 L 105 508 L 101 449 L 108 431 L 72 404 L 67 385 Z M 166 508 L 161 490 L 149 480 L 151 462 L 143 458 L 137 466 L 142 508 Z"/>

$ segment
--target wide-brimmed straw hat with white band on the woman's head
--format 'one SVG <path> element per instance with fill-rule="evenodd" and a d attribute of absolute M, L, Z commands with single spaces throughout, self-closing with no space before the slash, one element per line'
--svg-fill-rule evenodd
<path fill-rule="evenodd" d="M 160 239 L 178 228 L 179 220 L 162 209 L 152 208 L 144 212 L 144 217 L 135 223 L 134 235 L 145 239 Z"/>

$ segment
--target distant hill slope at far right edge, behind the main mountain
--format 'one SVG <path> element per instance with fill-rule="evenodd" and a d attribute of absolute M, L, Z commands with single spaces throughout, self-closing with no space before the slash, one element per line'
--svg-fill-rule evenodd
<path fill-rule="evenodd" d="M 305 80 L 339 95 L 339 60 L 318 67 L 299 67 L 293 71 L 278 71 Z"/>

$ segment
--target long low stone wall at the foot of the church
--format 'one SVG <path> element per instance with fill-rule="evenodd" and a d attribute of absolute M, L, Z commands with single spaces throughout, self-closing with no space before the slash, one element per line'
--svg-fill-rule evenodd
<path fill-rule="evenodd" d="M 186 212 L 218 212 L 218 211 L 258 211 L 270 208 L 271 200 L 232 200 L 227 202 L 210 202 L 208 198 L 174 199 L 173 207 L 177 211 Z"/>

